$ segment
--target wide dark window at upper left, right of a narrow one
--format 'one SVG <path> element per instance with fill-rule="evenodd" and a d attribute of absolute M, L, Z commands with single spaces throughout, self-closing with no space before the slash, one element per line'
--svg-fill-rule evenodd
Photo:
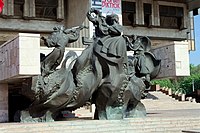
<path fill-rule="evenodd" d="M 37 18 L 57 18 L 58 0 L 35 0 L 35 15 Z"/>

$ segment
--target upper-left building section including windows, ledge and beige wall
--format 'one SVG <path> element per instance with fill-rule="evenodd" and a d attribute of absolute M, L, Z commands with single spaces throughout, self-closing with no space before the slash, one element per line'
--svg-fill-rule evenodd
<path fill-rule="evenodd" d="M 0 14 L 0 44 L 18 33 L 47 36 L 55 26 L 79 26 L 84 23 L 88 9 L 89 0 L 4 0 Z"/>

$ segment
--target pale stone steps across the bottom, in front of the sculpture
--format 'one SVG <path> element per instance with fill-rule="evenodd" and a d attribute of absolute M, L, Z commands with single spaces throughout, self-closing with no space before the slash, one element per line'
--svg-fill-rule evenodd
<path fill-rule="evenodd" d="M 181 132 L 200 128 L 200 117 L 77 120 L 47 123 L 1 123 L 0 133 Z"/>

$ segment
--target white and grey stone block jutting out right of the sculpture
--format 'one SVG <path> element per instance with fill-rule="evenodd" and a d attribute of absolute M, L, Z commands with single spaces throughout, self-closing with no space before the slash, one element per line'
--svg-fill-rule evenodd
<path fill-rule="evenodd" d="M 157 78 L 189 76 L 189 55 L 186 42 L 169 42 L 163 47 L 153 49 L 161 60 L 161 70 Z"/>

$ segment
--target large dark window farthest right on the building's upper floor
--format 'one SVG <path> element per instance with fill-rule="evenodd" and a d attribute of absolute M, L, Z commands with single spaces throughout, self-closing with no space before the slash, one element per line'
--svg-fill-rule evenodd
<path fill-rule="evenodd" d="M 163 28 L 183 27 L 183 8 L 173 6 L 159 6 L 160 26 Z"/>

